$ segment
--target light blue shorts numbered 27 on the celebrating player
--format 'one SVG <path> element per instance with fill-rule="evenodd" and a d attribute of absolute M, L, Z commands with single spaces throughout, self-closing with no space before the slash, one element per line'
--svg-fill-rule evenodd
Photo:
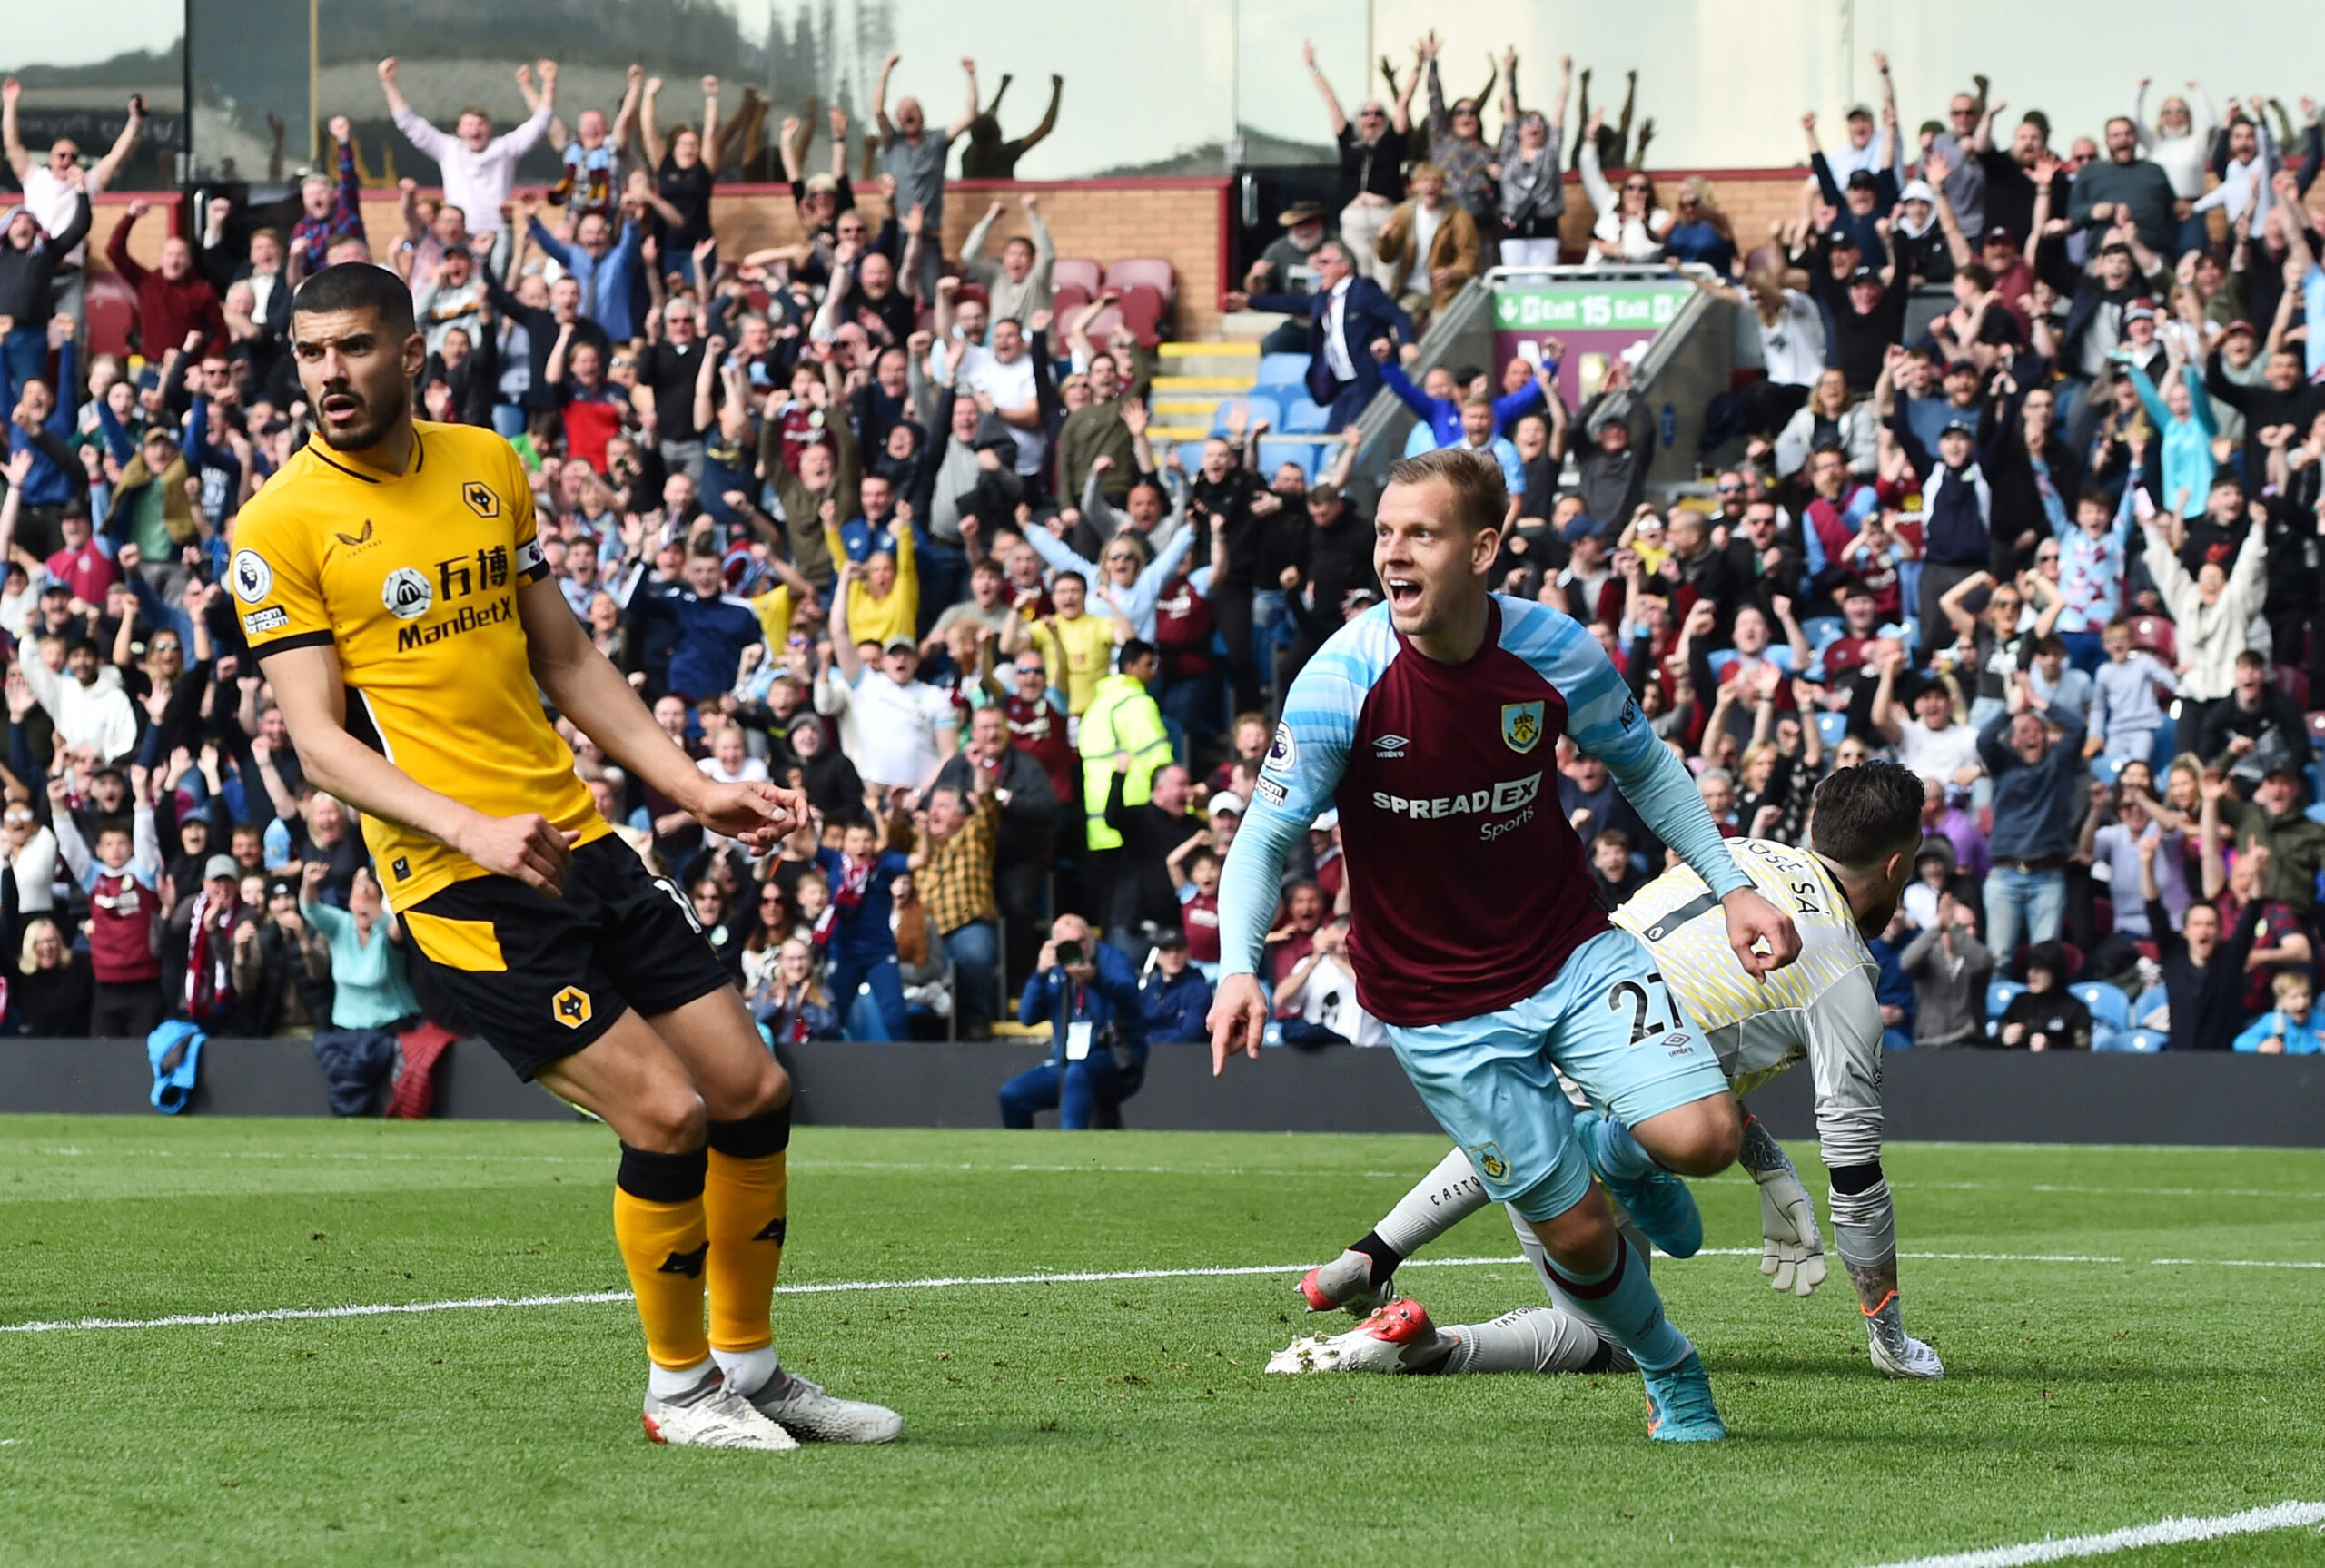
<path fill-rule="evenodd" d="M 1486 1194 L 1528 1220 L 1553 1220 L 1590 1192 L 1574 1106 L 1553 1066 L 1625 1127 L 1727 1092 L 1655 957 L 1621 927 L 1576 948 L 1523 1001 L 1451 1024 L 1390 1027 L 1388 1041 Z"/>

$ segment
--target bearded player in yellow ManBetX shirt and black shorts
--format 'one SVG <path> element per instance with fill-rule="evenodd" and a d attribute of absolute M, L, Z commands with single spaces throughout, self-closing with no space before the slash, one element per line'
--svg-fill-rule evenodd
<path fill-rule="evenodd" d="M 774 1357 L 791 1080 L 686 899 L 593 811 L 537 692 L 711 832 L 765 848 L 807 801 L 714 783 L 663 734 L 549 578 L 509 444 L 412 418 L 412 290 L 381 267 L 300 286 L 291 344 L 321 439 L 235 523 L 242 630 L 307 778 L 363 811 L 437 985 L 521 1078 L 618 1134 L 646 1433 L 886 1443 L 895 1412 Z"/>

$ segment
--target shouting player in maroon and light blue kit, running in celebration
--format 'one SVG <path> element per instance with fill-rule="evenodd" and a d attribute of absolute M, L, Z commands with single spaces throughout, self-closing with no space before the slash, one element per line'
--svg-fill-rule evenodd
<path fill-rule="evenodd" d="M 1607 920 L 1574 829 L 1539 799 L 1558 736 L 1600 757 L 1704 878 L 1700 913 L 1723 911 L 1751 973 L 1790 964 L 1800 934 L 1734 864 L 1590 632 L 1488 592 L 1507 509 L 1500 467 L 1458 448 L 1390 469 L 1372 553 L 1388 602 L 1300 671 L 1228 855 L 1211 1064 L 1258 1057 L 1256 971 L 1283 855 L 1337 806 L 1358 1001 L 1486 1192 L 1541 1238 L 1572 1306 L 1639 1364 L 1648 1433 L 1718 1440 L 1704 1364 L 1590 1178 L 1686 1257 L 1702 1220 L 1679 1175 L 1732 1164 L 1741 1120 L 1646 945 Z M 1558 1071 L 1607 1115 L 1576 1117 Z"/>

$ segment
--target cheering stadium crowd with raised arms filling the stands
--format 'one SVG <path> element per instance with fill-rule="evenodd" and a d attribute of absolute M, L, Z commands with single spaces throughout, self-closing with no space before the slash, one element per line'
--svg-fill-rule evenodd
<path fill-rule="evenodd" d="M 1707 411 L 1711 492 L 1662 504 L 1621 367 L 1579 409 L 1555 341 L 1541 365 L 1404 369 L 1495 256 L 1558 258 L 1567 88 L 1525 109 L 1516 67 L 1497 139 L 1488 105 L 1444 100 L 1435 39 L 1353 121 L 1316 77 L 1339 200 L 1290 214 L 1246 283 L 1309 318 L 1279 344 L 1314 353 L 1318 427 L 1386 388 L 1416 448 L 1500 462 L 1497 585 L 1593 627 L 1723 832 L 1802 841 L 1816 781 L 1876 753 L 1925 778 L 1918 880 L 1874 943 L 1893 1043 L 2316 1052 L 2316 105 L 2295 128 L 2190 84 L 2151 118 L 2141 84 L 2058 153 L 1983 84 L 1918 132 L 1883 91 L 1837 146 L 1802 118 L 1814 179 L 1765 239 L 1700 179 L 1665 207 L 1593 114 L 1569 260 L 1686 267 L 1755 365 Z M 423 418 L 518 446 L 544 555 L 656 720 L 707 774 L 814 801 L 753 859 L 567 727 L 772 1041 L 1018 1020 L 1056 1052 L 1004 1117 L 1063 1099 L 1088 1124 L 1151 1043 L 1204 1036 L 1221 857 L 1288 681 L 1379 599 L 1376 485 L 1353 432 L 1316 476 L 1262 467 L 1242 409 L 1158 451 L 1149 346 L 1111 293 L 1053 309 L 1035 195 L 942 253 L 974 116 L 932 123 L 895 72 L 881 216 L 844 167 L 804 177 L 786 125 L 804 239 L 728 256 L 716 132 L 660 123 L 639 67 L 611 114 L 574 112 L 544 60 L 518 74 L 525 123 L 446 130 L 384 60 L 442 195 L 405 181 L 400 230 L 367 232 L 335 121 L 288 225 L 219 197 L 144 267 L 128 207 L 107 244 L 137 290 L 128 362 L 81 353 L 65 293 L 105 165 L 26 153 L 7 84 L 12 1029 L 460 1022 L 407 976 L 358 825 L 300 776 L 228 571 L 237 506 L 307 439 L 291 293 L 370 260 L 409 279 Z M 516 190 L 542 137 L 565 177 Z M 1002 225 L 1025 232 L 995 251 Z M 1920 286 L 1944 297 L 1916 309 Z M 1593 757 L 1560 748 L 1558 797 L 1607 899 L 1660 871 Z M 1288 1045 L 1383 1038 L 1344 908 L 1325 813 L 1269 938 Z"/>

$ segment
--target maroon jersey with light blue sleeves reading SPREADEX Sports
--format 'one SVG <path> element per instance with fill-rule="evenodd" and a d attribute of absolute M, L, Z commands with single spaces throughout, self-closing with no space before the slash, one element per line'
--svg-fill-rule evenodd
<path fill-rule="evenodd" d="M 1225 973 L 1256 973 L 1286 850 L 1339 806 L 1365 1010 L 1430 1027 L 1532 997 L 1607 929 L 1558 811 L 1558 736 L 1607 764 L 1714 894 L 1746 887 L 1695 781 L 1604 648 L 1544 604 L 1493 595 L 1465 664 L 1418 653 L 1374 606 L 1293 681 L 1221 878 Z"/>

